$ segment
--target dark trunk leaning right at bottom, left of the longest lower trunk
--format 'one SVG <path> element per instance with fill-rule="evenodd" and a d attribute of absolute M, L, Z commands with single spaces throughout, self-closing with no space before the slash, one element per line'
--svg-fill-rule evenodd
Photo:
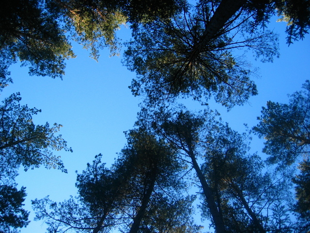
<path fill-rule="evenodd" d="M 144 216 L 146 207 L 150 202 L 151 195 L 152 195 L 153 190 L 154 190 L 155 181 L 156 181 L 156 173 L 152 172 L 151 183 L 150 183 L 150 185 L 149 185 L 149 187 L 148 187 L 148 189 L 147 189 L 147 191 L 146 191 L 146 193 L 142 199 L 140 209 L 134 218 L 134 221 L 131 225 L 129 233 L 138 233 L 142 217 Z"/>

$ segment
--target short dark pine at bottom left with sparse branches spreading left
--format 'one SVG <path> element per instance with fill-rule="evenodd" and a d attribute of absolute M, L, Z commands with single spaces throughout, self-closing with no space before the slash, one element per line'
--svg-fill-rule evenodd
<path fill-rule="evenodd" d="M 108 232 L 119 224 L 127 182 L 123 180 L 122 173 L 106 168 L 101 158 L 101 154 L 96 155 L 93 164 L 87 164 L 86 170 L 78 174 L 78 198 L 71 197 L 61 203 L 53 202 L 48 197 L 33 200 L 36 219 L 46 219 L 49 230 L 56 229 L 61 233 L 69 229 L 76 232 Z"/>

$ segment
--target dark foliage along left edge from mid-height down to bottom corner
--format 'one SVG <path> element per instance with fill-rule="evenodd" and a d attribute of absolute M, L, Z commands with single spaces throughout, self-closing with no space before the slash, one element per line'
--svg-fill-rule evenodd
<path fill-rule="evenodd" d="M 25 170 L 41 165 L 66 172 L 60 157 L 50 150 L 70 150 L 61 135 L 61 125 L 34 125 L 32 116 L 41 110 L 21 106 L 19 93 L 3 100 L 0 106 L 0 231 L 28 224 L 28 212 L 22 209 L 25 188 L 16 189 L 15 177 L 20 166 Z"/>

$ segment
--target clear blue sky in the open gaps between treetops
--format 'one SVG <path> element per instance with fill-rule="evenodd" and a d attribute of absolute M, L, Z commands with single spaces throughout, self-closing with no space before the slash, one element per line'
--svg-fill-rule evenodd
<path fill-rule="evenodd" d="M 234 130 L 244 131 L 244 123 L 249 127 L 256 125 L 256 117 L 266 101 L 287 102 L 287 94 L 300 90 L 302 83 L 310 79 L 310 36 L 288 47 L 285 23 L 270 24 L 269 29 L 273 28 L 280 34 L 280 58 L 275 58 L 273 63 L 261 63 L 249 57 L 253 67 L 259 67 L 260 77 L 253 77 L 259 95 L 251 97 L 248 105 L 236 106 L 229 113 L 218 105 L 210 105 L 219 109 L 223 120 Z M 126 40 L 129 33 L 128 29 L 122 29 L 120 36 Z M 109 57 L 109 51 L 103 50 L 97 63 L 81 46 L 74 44 L 73 49 L 78 56 L 67 61 L 62 81 L 30 77 L 27 67 L 14 65 L 11 67 L 14 83 L 0 93 L 3 100 L 20 92 L 22 104 L 42 109 L 34 117 L 35 124 L 62 124 L 61 134 L 73 149 L 73 153 L 55 152 L 62 157 L 68 174 L 44 167 L 27 172 L 21 169 L 16 181 L 19 186 L 27 187 L 25 208 L 31 211 L 31 223 L 21 233 L 46 232 L 46 225 L 33 221 L 31 200 L 49 195 L 51 200 L 62 201 L 75 196 L 75 171 L 85 169 L 98 153 L 104 155 L 108 166 L 113 163 L 116 153 L 126 143 L 123 132 L 132 128 L 139 111 L 140 99 L 133 97 L 128 89 L 135 74 L 122 66 L 122 57 Z M 195 106 L 198 108 L 199 104 L 193 103 L 192 107 Z M 262 141 L 255 139 L 252 147 L 260 152 Z"/>

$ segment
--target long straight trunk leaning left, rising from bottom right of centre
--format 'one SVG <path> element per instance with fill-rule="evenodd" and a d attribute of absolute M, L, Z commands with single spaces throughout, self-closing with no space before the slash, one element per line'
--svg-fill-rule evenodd
<path fill-rule="evenodd" d="M 211 213 L 214 225 L 215 225 L 215 231 L 216 231 L 216 233 L 226 233 L 224 221 L 223 221 L 223 218 L 221 217 L 221 215 L 217 209 L 217 204 L 215 203 L 214 196 L 212 194 L 211 188 L 204 178 L 202 170 L 200 169 L 200 166 L 198 165 L 198 163 L 196 161 L 194 152 L 191 149 L 191 147 L 189 147 L 188 155 L 191 158 L 193 167 L 194 167 L 194 169 L 197 173 L 197 176 L 199 178 L 199 181 L 202 185 L 203 194 L 204 194 L 205 199 L 207 201 L 207 206 L 210 210 L 210 213 Z"/>

